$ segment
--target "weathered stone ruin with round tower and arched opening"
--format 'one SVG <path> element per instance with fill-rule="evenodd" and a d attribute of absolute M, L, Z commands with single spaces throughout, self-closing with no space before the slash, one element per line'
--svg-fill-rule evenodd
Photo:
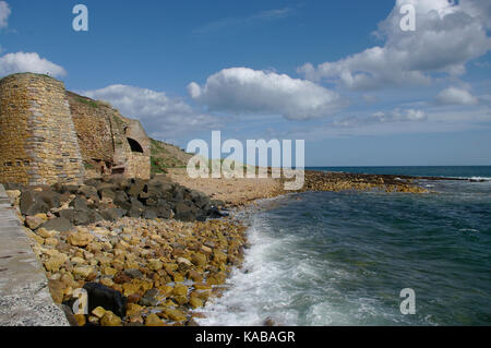
<path fill-rule="evenodd" d="M 33 73 L 0 80 L 0 182 L 80 183 L 85 167 L 148 179 L 149 147 L 140 121 L 60 81 Z"/>

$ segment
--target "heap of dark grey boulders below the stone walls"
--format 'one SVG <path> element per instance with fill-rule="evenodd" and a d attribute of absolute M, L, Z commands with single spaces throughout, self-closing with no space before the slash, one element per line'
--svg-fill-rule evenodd
<path fill-rule="evenodd" d="M 91 179 L 82 185 L 57 183 L 21 189 L 21 213 L 31 217 L 48 214 L 48 218 L 53 214 L 56 218 L 41 227 L 61 231 L 73 225 L 86 226 L 103 219 L 116 221 L 123 216 L 145 219 L 175 217 L 182 221 L 227 216 L 206 194 L 179 185 L 164 176 L 151 180 Z"/>

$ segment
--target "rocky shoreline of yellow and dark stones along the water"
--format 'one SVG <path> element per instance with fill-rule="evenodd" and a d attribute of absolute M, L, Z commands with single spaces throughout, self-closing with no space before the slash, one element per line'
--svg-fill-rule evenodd
<path fill-rule="evenodd" d="M 415 179 L 306 171 L 300 192 L 428 192 Z M 277 181 L 261 199 L 291 193 Z M 226 289 L 248 247 L 247 227 L 218 208 L 224 202 L 165 176 L 8 189 L 72 325 L 196 325 L 200 308 Z M 77 289 L 88 295 L 86 314 L 73 311 Z"/>

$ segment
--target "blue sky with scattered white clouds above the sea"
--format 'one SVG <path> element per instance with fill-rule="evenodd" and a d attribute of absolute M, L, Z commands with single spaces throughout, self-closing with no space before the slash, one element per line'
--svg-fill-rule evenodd
<path fill-rule="evenodd" d="M 491 165 L 490 29 L 486 0 L 7 0 L 0 75 L 49 73 L 182 147 L 220 130 L 303 139 L 307 166 Z"/>

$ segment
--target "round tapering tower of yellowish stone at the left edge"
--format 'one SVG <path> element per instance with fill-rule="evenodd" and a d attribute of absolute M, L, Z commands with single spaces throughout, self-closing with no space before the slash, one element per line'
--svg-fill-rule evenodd
<path fill-rule="evenodd" d="M 63 83 L 33 73 L 0 80 L 0 182 L 81 183 L 83 175 Z"/>

